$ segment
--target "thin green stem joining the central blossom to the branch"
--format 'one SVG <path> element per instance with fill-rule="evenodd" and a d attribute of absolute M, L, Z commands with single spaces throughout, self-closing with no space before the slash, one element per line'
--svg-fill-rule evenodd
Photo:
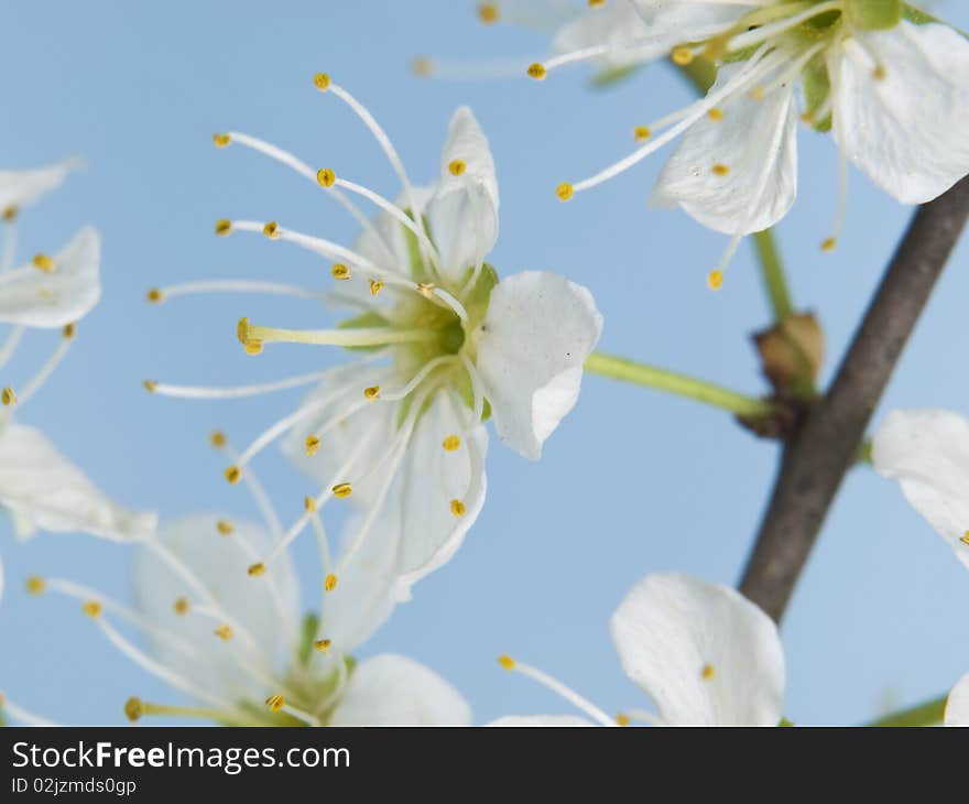
<path fill-rule="evenodd" d="M 756 419 L 769 416 L 774 412 L 774 406 L 765 400 L 747 396 L 711 382 L 657 369 L 654 366 L 645 366 L 634 360 L 603 355 L 599 351 L 592 352 L 586 360 L 586 370 L 594 374 L 611 377 L 613 380 L 632 382 L 644 388 L 654 388 L 657 391 L 686 396 L 729 411 L 738 416 Z"/>

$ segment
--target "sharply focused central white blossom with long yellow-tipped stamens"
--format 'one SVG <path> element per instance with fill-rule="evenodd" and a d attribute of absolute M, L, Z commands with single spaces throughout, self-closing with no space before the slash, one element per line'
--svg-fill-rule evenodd
<path fill-rule="evenodd" d="M 414 187 L 386 133 L 346 89 L 319 74 L 316 86 L 346 102 L 373 133 L 403 189 L 398 203 L 314 169 L 248 134 L 217 134 L 293 169 L 351 211 L 363 226 L 353 249 L 272 221 L 225 220 L 217 231 L 254 231 L 302 246 L 334 261 L 336 287 L 293 289 L 266 283 L 193 283 L 153 290 L 159 302 L 210 290 L 260 290 L 326 295 L 350 316 L 336 329 L 257 326 L 243 318 L 239 339 L 250 354 L 279 341 L 346 347 L 358 359 L 316 374 L 265 387 L 198 389 L 148 382 L 167 395 L 232 396 L 318 381 L 303 404 L 269 427 L 227 470 L 244 478 L 250 461 L 286 434 L 285 453 L 320 484 L 323 508 L 349 498 L 361 515 L 330 569 L 336 586 L 344 566 L 368 542 L 386 540 L 380 521 L 393 522 L 386 544 L 392 597 L 406 599 L 414 582 L 447 562 L 484 500 L 489 416 L 502 441 L 538 458 L 544 441 L 575 405 L 583 363 L 602 325 L 589 292 L 551 273 L 525 272 L 499 281 L 484 262 L 499 228 L 499 193 L 488 141 L 467 108 L 451 119 L 440 172 L 429 187 Z M 375 220 L 352 203 L 380 210 Z M 308 524 L 306 512 L 262 556 L 273 557 Z M 340 587 L 342 586 L 340 582 Z"/>

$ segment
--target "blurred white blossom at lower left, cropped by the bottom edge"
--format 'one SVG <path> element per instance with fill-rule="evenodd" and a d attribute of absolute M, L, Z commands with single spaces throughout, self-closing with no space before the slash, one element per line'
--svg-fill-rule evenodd
<path fill-rule="evenodd" d="M 179 706 L 133 697 L 124 706 L 131 720 L 161 715 L 244 726 L 470 722 L 460 694 L 424 665 L 393 654 L 359 664 L 351 658 L 389 612 L 386 588 L 368 567 L 370 557 L 380 556 L 353 562 L 342 579 L 346 595 L 324 593 L 322 618 L 307 617 L 300 628 L 288 553 L 277 557 L 273 573 L 244 577 L 271 540 L 259 525 L 214 515 L 163 524 L 156 539 L 138 547 L 134 608 L 68 580 L 30 584 L 36 593 L 79 600 L 124 655 L 194 700 Z M 127 630 L 148 638 L 149 651 Z"/>

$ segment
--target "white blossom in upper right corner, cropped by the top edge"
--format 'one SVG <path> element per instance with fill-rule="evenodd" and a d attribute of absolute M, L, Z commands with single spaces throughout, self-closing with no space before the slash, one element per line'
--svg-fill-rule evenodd
<path fill-rule="evenodd" d="M 642 144 L 629 156 L 563 183 L 557 194 L 568 200 L 682 135 L 653 203 L 679 206 L 731 236 L 709 278 L 715 289 L 739 240 L 776 224 L 794 203 L 798 118 L 819 131 L 834 128 L 840 153 L 837 220 L 825 250 L 835 248 L 843 220 L 848 161 L 905 204 L 932 200 L 969 172 L 969 140 L 961 134 L 969 120 L 969 42 L 921 11 L 883 0 L 622 4 L 640 12 L 643 47 L 672 52 L 683 65 L 703 55 L 720 65 L 717 82 L 706 98 L 638 126 Z M 606 13 L 587 13 L 597 12 Z M 577 41 L 573 52 L 529 73 L 543 78 L 614 52 L 608 35 L 597 44 Z"/>

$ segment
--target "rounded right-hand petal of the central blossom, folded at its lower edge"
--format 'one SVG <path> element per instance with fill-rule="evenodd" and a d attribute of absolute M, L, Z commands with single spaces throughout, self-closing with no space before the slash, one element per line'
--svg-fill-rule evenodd
<path fill-rule="evenodd" d="M 478 341 L 478 370 L 499 437 L 527 458 L 573 409 L 583 365 L 602 316 L 592 294 L 554 273 L 527 271 L 491 293 Z"/>

